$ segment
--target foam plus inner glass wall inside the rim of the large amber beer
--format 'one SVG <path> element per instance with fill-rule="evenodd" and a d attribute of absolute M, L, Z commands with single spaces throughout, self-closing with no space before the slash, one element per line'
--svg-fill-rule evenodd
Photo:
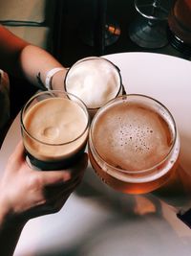
<path fill-rule="evenodd" d="M 123 101 L 121 97 L 99 110 L 91 127 L 91 144 L 103 161 L 121 171 L 149 170 L 171 151 L 174 121 L 168 120 L 169 112 L 157 110 L 159 106 L 154 109 L 128 97 L 136 98 L 129 95 Z"/>

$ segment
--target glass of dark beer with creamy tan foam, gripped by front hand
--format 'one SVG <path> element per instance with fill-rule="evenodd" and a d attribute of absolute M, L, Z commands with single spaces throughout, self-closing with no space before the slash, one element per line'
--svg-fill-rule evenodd
<path fill-rule="evenodd" d="M 63 91 L 35 94 L 21 110 L 21 131 L 30 164 L 39 170 L 69 167 L 85 150 L 89 132 L 86 105 Z"/>

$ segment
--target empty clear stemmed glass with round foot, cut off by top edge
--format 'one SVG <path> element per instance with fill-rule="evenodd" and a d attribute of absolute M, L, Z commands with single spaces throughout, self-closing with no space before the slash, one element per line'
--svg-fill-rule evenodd
<path fill-rule="evenodd" d="M 129 36 L 138 46 L 156 49 L 168 43 L 167 17 L 172 0 L 135 0 L 138 19 L 129 27 Z"/>

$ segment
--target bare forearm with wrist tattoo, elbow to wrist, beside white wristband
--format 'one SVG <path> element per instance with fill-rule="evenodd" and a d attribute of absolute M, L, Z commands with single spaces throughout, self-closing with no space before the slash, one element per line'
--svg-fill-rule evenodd
<path fill-rule="evenodd" d="M 22 50 L 20 66 L 26 79 L 35 86 L 39 86 L 40 81 L 45 84 L 47 73 L 51 69 L 64 68 L 51 54 L 33 45 L 28 45 Z M 53 89 L 63 89 L 65 74 L 66 69 L 63 69 L 53 76 Z"/>

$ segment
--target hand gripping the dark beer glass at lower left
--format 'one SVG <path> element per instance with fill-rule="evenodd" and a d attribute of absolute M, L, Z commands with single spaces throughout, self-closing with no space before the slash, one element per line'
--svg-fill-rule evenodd
<path fill-rule="evenodd" d="M 11 154 L 0 180 L 0 221 L 26 222 L 59 211 L 87 167 L 87 154 L 63 171 L 35 171 L 26 160 L 22 142 Z"/>

